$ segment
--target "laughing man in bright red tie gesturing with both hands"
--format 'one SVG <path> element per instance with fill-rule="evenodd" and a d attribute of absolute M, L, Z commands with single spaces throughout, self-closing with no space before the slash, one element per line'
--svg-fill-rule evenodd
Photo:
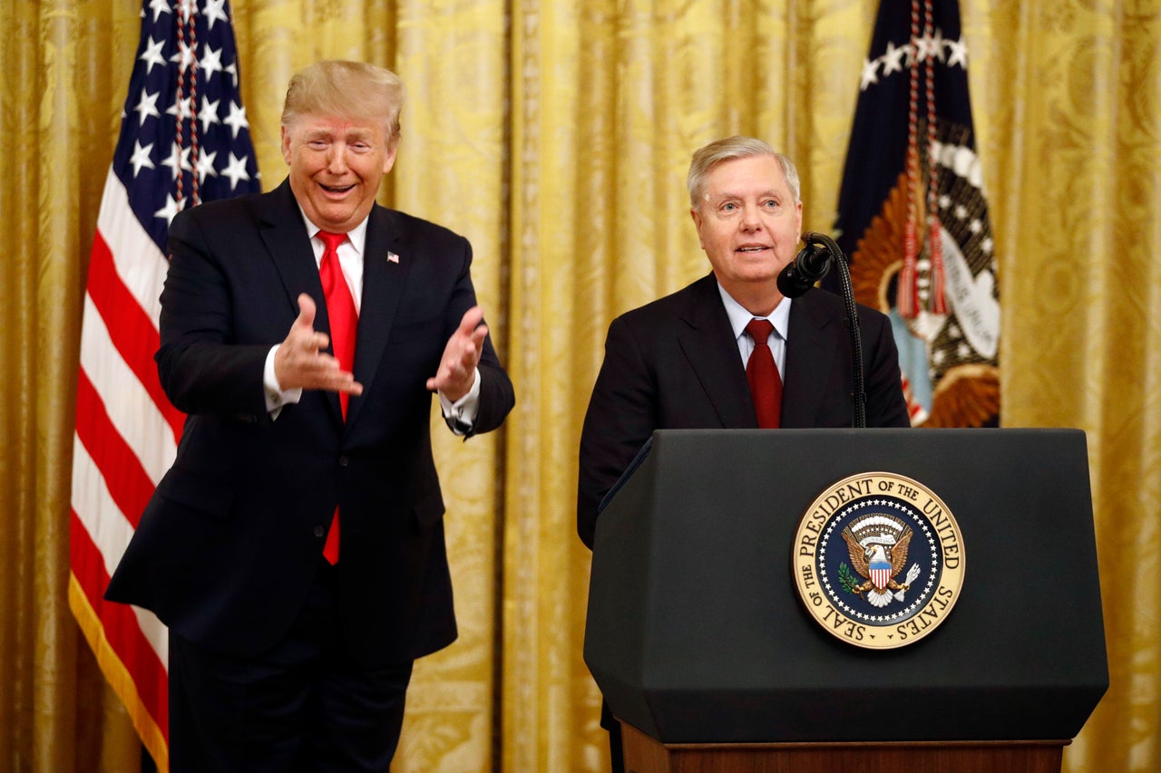
<path fill-rule="evenodd" d="M 174 773 L 385 772 L 412 660 L 456 636 L 432 392 L 464 436 L 514 398 L 468 241 L 375 203 L 402 101 L 308 67 L 288 179 L 173 219 L 157 362 L 188 419 L 107 597 L 170 627 Z"/>

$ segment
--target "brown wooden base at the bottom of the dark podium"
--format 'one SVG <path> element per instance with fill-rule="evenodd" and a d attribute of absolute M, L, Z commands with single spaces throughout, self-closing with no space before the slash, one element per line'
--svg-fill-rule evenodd
<path fill-rule="evenodd" d="M 663 744 L 621 723 L 626 773 L 1060 773 L 1068 741 Z"/>

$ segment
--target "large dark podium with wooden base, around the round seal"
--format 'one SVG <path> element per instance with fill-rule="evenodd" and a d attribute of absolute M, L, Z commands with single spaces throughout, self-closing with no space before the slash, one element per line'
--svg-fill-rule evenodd
<path fill-rule="evenodd" d="M 954 607 L 893 649 L 795 586 L 800 520 L 867 472 L 962 541 Z M 1059 771 L 1109 686 L 1084 434 L 657 431 L 597 522 L 584 657 L 637 773 Z"/>

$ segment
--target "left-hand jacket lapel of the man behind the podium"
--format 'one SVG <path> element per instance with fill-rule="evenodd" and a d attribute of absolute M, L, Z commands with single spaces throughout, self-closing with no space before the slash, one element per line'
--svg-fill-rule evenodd
<path fill-rule="evenodd" d="M 700 280 L 682 315 L 678 344 L 726 428 L 757 428 L 737 341 L 713 274 Z"/>

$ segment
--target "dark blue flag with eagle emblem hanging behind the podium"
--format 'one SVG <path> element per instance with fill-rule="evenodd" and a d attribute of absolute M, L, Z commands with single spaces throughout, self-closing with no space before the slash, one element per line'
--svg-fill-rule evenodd
<path fill-rule="evenodd" d="M 835 223 L 889 315 L 911 424 L 996 425 L 1000 299 L 957 0 L 881 0 Z"/>

